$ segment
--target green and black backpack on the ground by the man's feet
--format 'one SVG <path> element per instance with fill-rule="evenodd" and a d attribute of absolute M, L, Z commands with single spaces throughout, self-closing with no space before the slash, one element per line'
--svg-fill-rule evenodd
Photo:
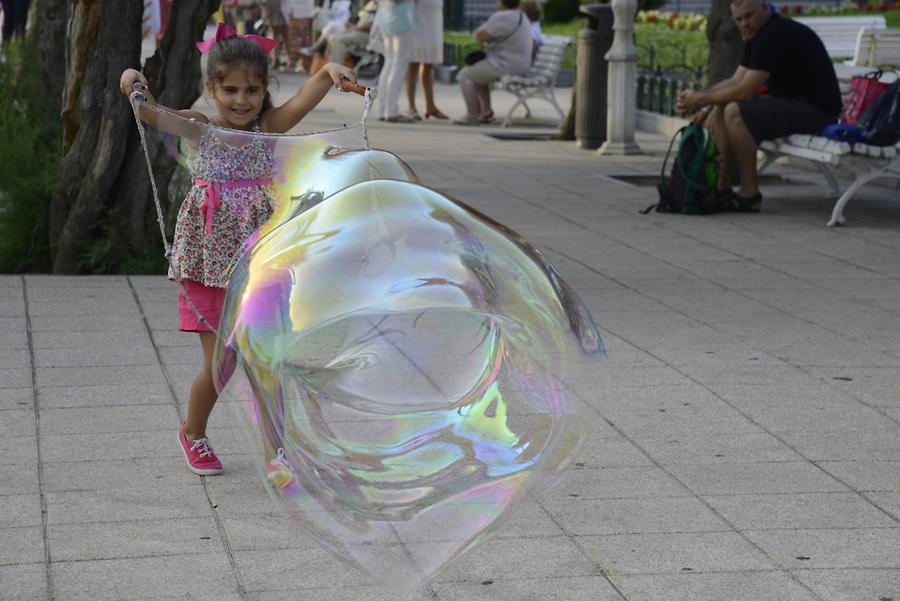
<path fill-rule="evenodd" d="M 666 177 L 666 165 L 672 154 L 675 140 L 681 138 L 672 165 L 672 174 Z M 716 180 L 719 177 L 719 150 L 712 133 L 700 125 L 691 123 L 672 136 L 669 150 L 663 161 L 659 190 L 659 202 L 641 211 L 649 213 L 656 208 L 659 213 L 682 215 L 708 215 L 716 212 Z"/>

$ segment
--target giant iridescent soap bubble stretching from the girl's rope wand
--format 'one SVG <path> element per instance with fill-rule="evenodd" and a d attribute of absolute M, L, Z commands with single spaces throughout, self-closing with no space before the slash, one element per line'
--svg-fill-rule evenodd
<path fill-rule="evenodd" d="M 277 207 L 232 271 L 217 386 L 302 532 L 407 590 L 573 461 L 602 342 L 537 249 L 363 131 L 265 136 Z"/>

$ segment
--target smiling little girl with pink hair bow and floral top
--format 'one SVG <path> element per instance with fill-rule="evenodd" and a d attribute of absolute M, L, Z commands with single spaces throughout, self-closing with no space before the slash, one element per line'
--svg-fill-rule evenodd
<path fill-rule="evenodd" d="M 307 80 L 293 98 L 276 108 L 268 91 L 266 56 L 276 45 L 268 38 L 239 36 L 228 25 L 220 24 L 214 39 L 197 44 L 203 54 L 209 55 L 206 90 L 215 104 L 216 115 L 207 117 L 193 110 L 172 112 L 217 127 L 284 133 L 315 108 L 332 85 L 340 86 L 342 79 L 355 81 L 351 69 L 329 63 Z M 140 72 L 128 69 L 122 73 L 119 85 L 123 94 L 130 95 L 136 83 L 144 87 L 147 102 L 155 105 Z M 149 109 L 142 110 L 142 117 L 150 123 L 159 121 Z M 179 295 L 179 329 L 197 332 L 203 347 L 203 369 L 191 387 L 187 419 L 178 431 L 188 467 L 195 474 L 222 473 L 222 462 L 206 438 L 206 423 L 218 399 L 212 376 L 216 342 L 212 330 L 219 327 L 226 274 L 232 261 L 240 255 L 244 242 L 272 214 L 273 162 L 273 145 L 263 136 L 234 147 L 212 131 L 207 132 L 199 140 L 191 164 L 194 186 L 178 212 L 173 262 L 184 289 L 208 323 L 207 326 L 198 321 L 184 295 Z"/>

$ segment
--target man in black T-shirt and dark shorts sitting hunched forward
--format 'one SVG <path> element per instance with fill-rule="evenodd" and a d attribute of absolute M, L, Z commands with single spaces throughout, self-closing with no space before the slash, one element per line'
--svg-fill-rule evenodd
<path fill-rule="evenodd" d="M 762 0 L 735 0 L 731 13 L 744 40 L 741 63 L 729 79 L 686 91 L 681 111 L 706 118 L 721 154 L 717 204 L 722 211 L 759 211 L 762 195 L 756 149 L 763 140 L 815 134 L 837 120 L 841 92 L 822 40 L 806 25 L 773 14 Z M 759 93 L 765 85 L 765 93 Z M 707 115 L 708 113 L 708 115 Z M 731 190 L 732 159 L 741 186 Z"/>

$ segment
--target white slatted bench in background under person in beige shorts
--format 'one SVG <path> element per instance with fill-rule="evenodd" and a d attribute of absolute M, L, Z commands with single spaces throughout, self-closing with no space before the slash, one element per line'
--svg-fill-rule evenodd
<path fill-rule="evenodd" d="M 503 127 L 512 125 L 513 113 L 519 105 L 525 107 L 526 118 L 531 118 L 531 110 L 526 101 L 532 98 L 542 98 L 553 105 L 559 113 L 560 125 L 566 119 L 559 103 L 556 101 L 556 78 L 562 65 L 566 49 L 572 43 L 569 36 L 545 35 L 543 42 L 538 47 L 537 54 L 531 64 L 531 69 L 525 75 L 504 75 L 494 83 L 494 88 L 506 90 L 516 95 L 516 103 L 506 113 L 503 119 Z"/>

